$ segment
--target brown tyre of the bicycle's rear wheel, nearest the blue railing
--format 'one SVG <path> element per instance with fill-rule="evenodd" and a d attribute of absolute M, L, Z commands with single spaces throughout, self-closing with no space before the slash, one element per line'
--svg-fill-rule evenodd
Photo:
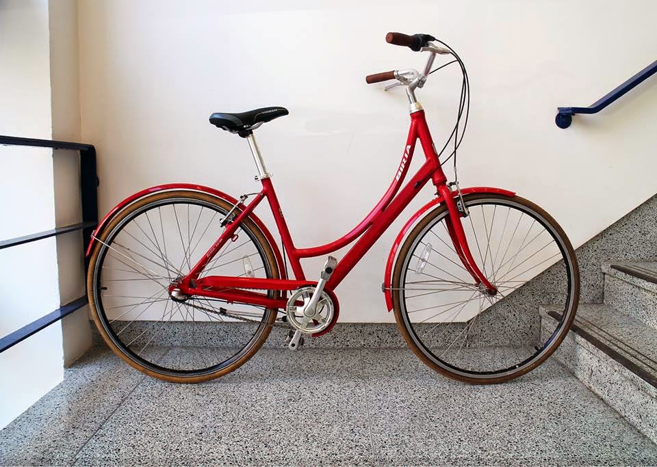
<path fill-rule="evenodd" d="M 108 235 L 110 235 L 110 232 L 114 230 L 114 228 L 123 220 L 125 217 L 129 216 L 131 213 L 136 211 L 137 209 L 142 208 L 146 204 L 152 203 L 152 202 L 157 202 L 161 200 L 165 200 L 167 198 L 192 198 L 195 200 L 202 200 L 205 202 L 209 202 L 210 204 L 215 204 L 216 206 L 220 207 L 221 209 L 224 209 L 225 211 L 229 211 L 233 204 L 231 202 L 228 202 L 226 200 L 222 200 L 221 198 L 217 198 L 216 196 L 211 196 L 209 194 L 201 193 L 199 191 L 164 191 L 162 193 L 157 193 L 149 196 L 145 196 L 144 198 L 140 198 L 139 200 L 133 202 L 129 206 L 125 207 L 125 209 L 119 211 L 112 219 L 110 219 L 110 222 L 107 224 L 105 228 L 103 228 L 103 231 L 101 232 L 101 235 L 99 235 L 99 239 L 101 241 L 105 241 Z M 255 239 L 260 243 L 263 252 L 265 254 L 265 259 L 268 261 L 268 265 L 270 267 L 271 271 L 271 278 L 277 279 L 279 278 L 279 268 L 276 263 L 276 256 L 274 256 L 274 252 L 272 250 L 272 246 L 270 243 L 267 241 L 265 235 L 263 232 L 256 226 L 255 222 L 253 222 L 251 219 L 246 219 L 244 221 L 244 224 L 246 224 L 246 227 L 248 230 L 253 234 Z M 98 261 L 99 258 L 99 253 L 101 251 L 101 243 L 96 241 L 96 245 L 94 246 L 93 252 L 91 254 L 90 262 L 89 262 L 89 269 L 87 271 L 87 295 L 89 298 L 89 308 L 91 310 L 91 316 L 94 320 L 94 323 L 96 323 L 96 328 L 98 329 L 98 332 L 103 336 L 103 340 L 107 345 L 118 355 L 121 359 L 123 359 L 127 364 L 133 366 L 134 368 L 138 369 L 142 373 L 145 373 L 146 375 L 155 377 L 157 379 L 163 379 L 164 381 L 168 382 L 174 382 L 174 383 L 199 383 L 199 382 L 204 382 L 208 381 L 209 379 L 214 379 L 223 375 L 227 375 L 228 373 L 231 373 L 231 371 L 235 371 L 236 369 L 240 368 L 244 363 L 246 363 L 253 355 L 262 347 L 262 345 L 265 343 L 267 340 L 272 328 L 271 324 L 274 322 L 276 319 L 276 312 L 270 313 L 270 319 L 268 320 L 268 326 L 263 330 L 257 341 L 251 345 L 250 349 L 244 355 L 239 358 L 238 360 L 235 360 L 233 364 L 230 366 L 227 366 L 224 369 L 221 369 L 219 371 L 216 371 L 214 373 L 209 373 L 207 375 L 201 375 L 201 376 L 172 376 L 172 375 L 165 375 L 162 373 L 157 373 L 156 371 L 152 371 L 151 369 L 144 368 L 144 366 L 141 366 L 137 362 L 134 362 L 129 356 L 125 355 L 123 351 L 121 351 L 116 345 L 114 345 L 114 342 L 110 338 L 109 335 L 107 335 L 107 332 L 105 332 L 105 328 L 103 327 L 98 310 L 96 308 L 96 303 L 94 300 L 94 270 L 96 269 L 96 262 Z M 276 291 L 275 298 L 279 297 L 279 292 Z"/>

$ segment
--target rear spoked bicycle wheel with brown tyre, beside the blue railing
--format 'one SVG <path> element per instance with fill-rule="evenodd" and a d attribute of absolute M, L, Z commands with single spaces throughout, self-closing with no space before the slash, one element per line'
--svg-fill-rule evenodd
<path fill-rule="evenodd" d="M 87 279 L 91 314 L 107 345 L 136 369 L 201 382 L 237 369 L 266 341 L 276 310 L 168 292 L 218 239 L 231 207 L 196 191 L 166 191 L 127 206 L 99 236 Z M 246 219 L 207 275 L 279 278 L 279 270 L 263 232 Z"/>

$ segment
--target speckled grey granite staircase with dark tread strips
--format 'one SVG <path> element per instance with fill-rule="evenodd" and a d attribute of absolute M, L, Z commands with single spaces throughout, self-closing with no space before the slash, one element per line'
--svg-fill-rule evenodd
<path fill-rule="evenodd" d="M 554 354 L 571 373 L 657 443 L 657 263 L 602 265 L 602 304 L 580 304 Z M 563 310 L 563 307 L 561 308 Z M 541 331 L 559 308 L 541 306 Z"/>

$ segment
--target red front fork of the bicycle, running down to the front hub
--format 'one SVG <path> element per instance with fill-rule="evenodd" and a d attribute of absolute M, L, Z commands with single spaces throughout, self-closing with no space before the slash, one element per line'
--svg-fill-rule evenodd
<path fill-rule="evenodd" d="M 456 201 L 454 201 L 452 191 L 448 185 L 442 184 L 438 186 L 438 194 L 443 198 L 443 200 L 445 200 L 448 211 L 448 216 L 445 219 L 447 230 L 450 234 L 450 239 L 452 239 L 454 251 L 456 251 L 456 254 L 461 259 L 463 267 L 465 267 L 465 270 L 470 274 L 470 276 L 472 276 L 477 286 L 483 284 L 490 295 L 495 295 L 498 293 L 497 287 L 491 284 L 491 282 L 489 282 L 486 276 L 481 272 L 477 266 L 477 263 L 472 257 L 469 246 L 467 245 L 465 231 L 463 230 L 463 224 L 461 224 L 462 214 L 461 211 L 459 211 L 458 206 L 456 206 Z M 460 194 L 459 200 L 462 200 Z M 465 204 L 463 204 L 463 217 L 465 217 L 465 215 L 467 215 L 467 208 L 465 207 Z"/>

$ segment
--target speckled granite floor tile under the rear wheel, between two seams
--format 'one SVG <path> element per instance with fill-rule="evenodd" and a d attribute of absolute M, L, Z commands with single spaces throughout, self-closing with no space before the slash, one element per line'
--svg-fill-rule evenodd
<path fill-rule="evenodd" d="M 357 351 L 263 349 L 205 384 L 145 381 L 77 464 L 368 464 L 371 451 Z"/>

